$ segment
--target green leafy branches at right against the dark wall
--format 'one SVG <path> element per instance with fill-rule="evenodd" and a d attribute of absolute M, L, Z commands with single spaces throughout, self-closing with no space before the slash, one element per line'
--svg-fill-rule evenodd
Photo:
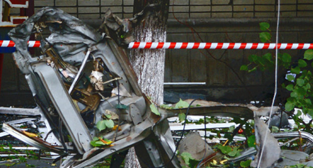
<path fill-rule="evenodd" d="M 262 42 L 270 41 L 271 35 L 268 31 L 269 24 L 266 22 L 259 23 L 260 29 L 264 32 L 259 34 L 260 40 Z M 313 90 L 311 85 L 313 83 L 313 76 L 310 70 L 304 69 L 307 66 L 307 60 L 313 59 L 313 49 L 307 49 L 304 52 L 303 58 L 298 59 L 296 62 L 292 62 L 291 56 L 288 53 L 278 53 L 277 55 L 278 65 L 280 67 L 290 70 L 291 73 L 296 74 L 294 77 L 291 74 L 286 76 L 287 86 L 282 85 L 286 90 L 290 91 L 290 97 L 287 97 L 285 103 L 285 110 L 291 111 L 294 107 L 302 109 L 304 114 L 313 114 L 313 105 L 311 99 L 313 98 Z M 274 56 L 270 53 L 266 53 L 262 56 L 255 54 L 249 55 L 249 64 L 244 64 L 240 67 L 240 70 L 245 70 L 248 72 L 254 70 L 269 70 L 274 69 Z M 313 62 L 311 63 L 313 67 Z M 290 82 L 289 82 L 290 81 Z"/>

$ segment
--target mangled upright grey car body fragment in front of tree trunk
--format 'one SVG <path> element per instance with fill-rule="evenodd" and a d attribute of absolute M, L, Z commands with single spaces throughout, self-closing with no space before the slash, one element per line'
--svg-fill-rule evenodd
<path fill-rule="evenodd" d="M 48 37 L 42 35 L 46 31 Z M 28 52 L 33 32 L 41 40 L 41 55 Z M 5 131 L 62 157 L 76 153 L 61 167 L 91 166 L 138 143 L 158 149 L 157 154 L 148 154 L 149 164 L 170 160 L 175 145 L 169 126 L 164 127 L 165 118 L 147 108 L 150 101 L 137 85 L 125 50 L 115 41 L 52 7 L 42 8 L 9 35 L 16 43 L 16 63 L 61 146 L 47 146 L 40 137 L 30 137 L 7 123 Z M 168 166 L 180 167 L 177 159 Z"/>

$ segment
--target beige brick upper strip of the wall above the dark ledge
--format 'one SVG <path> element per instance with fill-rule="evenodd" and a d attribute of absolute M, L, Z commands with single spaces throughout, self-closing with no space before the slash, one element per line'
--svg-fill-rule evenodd
<path fill-rule="evenodd" d="M 313 16 L 312 0 L 280 0 L 282 17 Z M 132 16 L 133 0 L 35 0 L 35 12 L 41 7 L 55 6 L 78 18 L 101 18 L 108 8 L 120 17 Z M 179 18 L 274 17 L 277 0 L 170 0 Z M 13 9 L 18 14 L 19 9 Z"/>

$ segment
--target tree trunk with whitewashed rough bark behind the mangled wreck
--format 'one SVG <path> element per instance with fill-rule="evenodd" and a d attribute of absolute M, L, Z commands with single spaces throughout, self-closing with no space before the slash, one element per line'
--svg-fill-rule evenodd
<path fill-rule="evenodd" d="M 135 41 L 165 42 L 167 19 L 169 15 L 169 0 L 134 0 L 133 13 L 140 12 L 147 4 L 160 4 L 160 11 L 154 13 L 135 27 Z M 138 76 L 138 84 L 155 104 L 163 104 L 163 82 L 165 49 L 131 49 L 130 63 Z M 132 163 L 132 164 L 128 164 Z M 125 158 L 126 168 L 140 167 L 132 147 Z"/>

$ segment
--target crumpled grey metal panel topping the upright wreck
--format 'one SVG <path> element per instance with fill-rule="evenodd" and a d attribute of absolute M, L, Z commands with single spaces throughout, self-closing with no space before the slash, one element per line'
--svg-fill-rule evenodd
<path fill-rule="evenodd" d="M 28 52 L 27 41 L 34 28 L 41 29 L 46 26 L 52 33 L 45 39 L 47 43 L 41 41 L 42 49 L 45 51 L 46 44 L 52 45 L 65 61 L 78 60 L 79 63 L 79 60 L 82 60 L 81 51 L 102 39 L 93 28 L 63 10 L 54 7 L 42 8 L 9 32 L 9 36 L 16 44 L 15 59 L 24 73 L 29 73 L 29 63 L 37 60 Z"/>

